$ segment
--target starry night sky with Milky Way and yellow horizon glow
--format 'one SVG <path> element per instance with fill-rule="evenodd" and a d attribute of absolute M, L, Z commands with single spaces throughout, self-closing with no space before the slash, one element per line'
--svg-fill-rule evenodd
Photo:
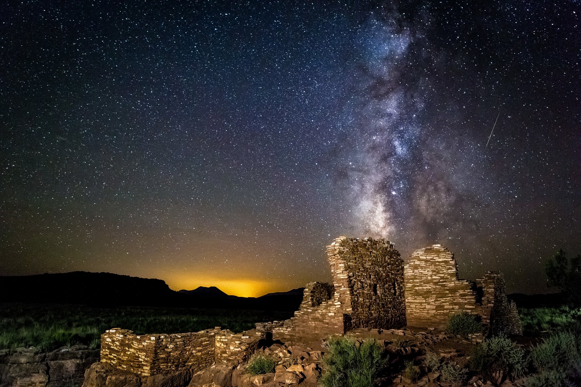
<path fill-rule="evenodd" d="M 581 253 L 578 0 L 1 8 L 0 274 L 261 295 L 346 235 L 534 293 Z"/>

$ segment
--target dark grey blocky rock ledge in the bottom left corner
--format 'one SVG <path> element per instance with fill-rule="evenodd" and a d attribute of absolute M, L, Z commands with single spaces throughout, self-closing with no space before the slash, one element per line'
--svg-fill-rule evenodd
<path fill-rule="evenodd" d="M 0 386 L 80 386 L 85 371 L 96 361 L 99 361 L 99 350 L 83 345 L 62 347 L 48 353 L 36 348 L 0 350 Z"/>

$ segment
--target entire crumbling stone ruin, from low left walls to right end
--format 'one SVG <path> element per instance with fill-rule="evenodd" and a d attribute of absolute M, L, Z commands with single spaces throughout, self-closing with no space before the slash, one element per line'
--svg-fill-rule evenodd
<path fill-rule="evenodd" d="M 460 280 L 454 255 L 442 245 L 414 251 L 404 264 L 389 241 L 339 237 L 327 246 L 327 259 L 333 284 L 307 284 L 289 320 L 258 323 L 241 334 L 220 327 L 171 335 L 114 328 L 101 336 L 101 362 L 155 385 L 156 375 L 241 363 L 267 337 L 307 343 L 356 328 L 443 327 L 457 312 L 482 316 L 488 334 L 522 334 L 502 274 Z"/>

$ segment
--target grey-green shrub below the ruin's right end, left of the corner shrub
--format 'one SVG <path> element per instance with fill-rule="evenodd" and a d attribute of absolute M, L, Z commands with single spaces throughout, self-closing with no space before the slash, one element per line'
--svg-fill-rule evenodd
<path fill-rule="evenodd" d="M 491 382 L 497 381 L 502 371 L 504 375 L 518 378 L 525 374 L 527 360 L 522 348 L 504 336 L 485 339 L 474 348 L 470 365 Z"/>

